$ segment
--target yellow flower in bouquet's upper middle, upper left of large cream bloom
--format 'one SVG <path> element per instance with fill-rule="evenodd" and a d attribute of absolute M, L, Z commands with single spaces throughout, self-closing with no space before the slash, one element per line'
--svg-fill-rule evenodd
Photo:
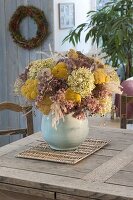
<path fill-rule="evenodd" d="M 56 78 L 64 78 L 67 79 L 68 77 L 68 70 L 67 66 L 64 62 L 59 62 L 57 65 L 55 65 L 52 69 L 52 74 Z"/>

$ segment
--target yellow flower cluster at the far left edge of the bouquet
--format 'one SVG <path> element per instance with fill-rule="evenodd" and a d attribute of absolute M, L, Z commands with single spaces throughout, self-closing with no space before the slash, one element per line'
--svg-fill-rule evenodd
<path fill-rule="evenodd" d="M 37 80 L 28 79 L 21 87 L 22 96 L 26 97 L 28 100 L 35 100 L 38 95 L 37 85 Z"/>

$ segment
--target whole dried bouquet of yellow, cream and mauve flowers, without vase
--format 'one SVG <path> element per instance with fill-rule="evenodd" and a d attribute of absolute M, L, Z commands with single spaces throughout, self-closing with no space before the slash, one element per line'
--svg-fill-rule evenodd
<path fill-rule="evenodd" d="M 77 119 L 111 111 L 113 93 L 120 93 L 115 70 L 74 49 L 31 62 L 17 78 L 14 91 L 33 102 L 53 126 L 67 114 Z"/>

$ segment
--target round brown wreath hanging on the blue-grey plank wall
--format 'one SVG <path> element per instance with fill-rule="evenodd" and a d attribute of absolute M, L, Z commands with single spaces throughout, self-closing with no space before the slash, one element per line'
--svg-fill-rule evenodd
<path fill-rule="evenodd" d="M 20 23 L 25 17 L 31 17 L 36 25 L 36 36 L 27 40 L 20 32 Z M 34 6 L 19 6 L 9 22 L 9 31 L 13 40 L 25 49 L 38 47 L 48 33 L 48 23 L 44 12 Z"/>

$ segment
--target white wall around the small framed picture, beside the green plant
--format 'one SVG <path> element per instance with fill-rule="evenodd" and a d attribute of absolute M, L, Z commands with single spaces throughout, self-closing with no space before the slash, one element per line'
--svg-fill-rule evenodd
<path fill-rule="evenodd" d="M 54 50 L 66 51 L 72 48 L 72 44 L 66 42 L 62 45 L 62 40 L 68 35 L 71 29 L 59 29 L 59 3 L 74 3 L 75 4 L 75 27 L 87 21 L 87 12 L 95 8 L 95 0 L 56 0 L 54 1 Z M 76 49 L 84 53 L 88 53 L 91 48 L 91 42 L 84 42 L 82 34 L 81 42 L 76 45 Z M 74 48 L 74 47 L 73 47 Z"/>

